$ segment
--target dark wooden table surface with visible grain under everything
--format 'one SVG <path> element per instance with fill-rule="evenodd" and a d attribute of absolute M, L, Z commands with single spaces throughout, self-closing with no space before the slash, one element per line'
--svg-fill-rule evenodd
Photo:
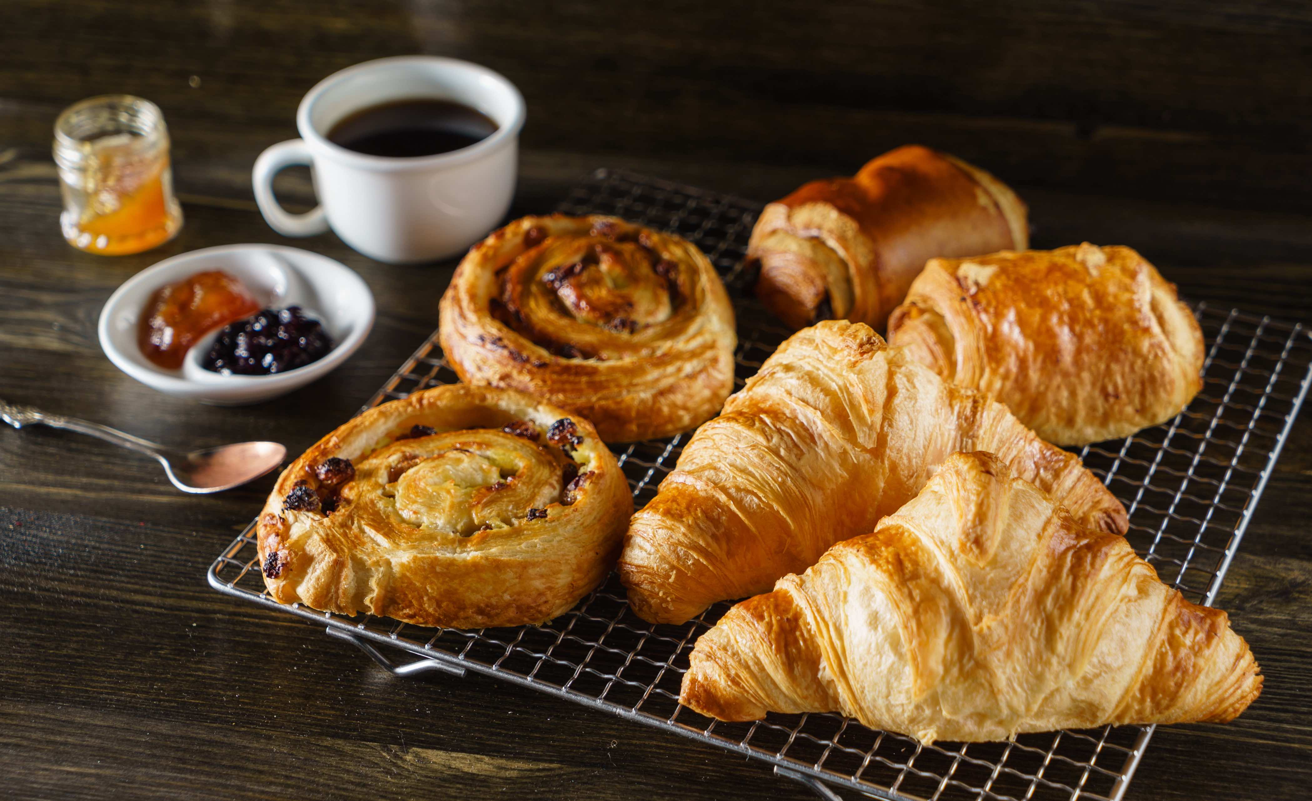
<path fill-rule="evenodd" d="M 512 214 L 602 165 L 768 201 L 905 142 L 1013 182 L 1036 246 L 1139 248 L 1193 299 L 1312 321 L 1312 12 L 1208 1 L 0 5 L 0 397 L 177 444 L 349 417 L 437 324 L 451 264 L 396 267 L 333 235 L 379 307 L 370 340 L 279 401 L 222 409 L 136 384 L 94 325 L 167 256 L 289 243 L 249 168 L 348 64 L 457 55 L 525 92 Z M 186 225 L 140 256 L 58 232 L 50 126 L 104 92 L 159 102 Z M 308 203 L 304 173 L 279 180 Z M 73 434 L 0 430 L 0 794 L 14 798 L 807 798 L 760 763 L 492 679 L 390 678 L 321 629 L 205 585 L 272 479 L 216 497 Z M 1219 606 L 1262 697 L 1158 730 L 1128 798 L 1303 798 L 1312 781 L 1312 420 L 1271 475 Z"/>

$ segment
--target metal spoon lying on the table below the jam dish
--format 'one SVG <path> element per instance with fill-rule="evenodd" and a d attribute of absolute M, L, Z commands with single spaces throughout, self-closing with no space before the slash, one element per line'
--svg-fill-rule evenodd
<path fill-rule="evenodd" d="M 182 452 L 125 434 L 96 422 L 46 414 L 31 406 L 16 406 L 0 400 L 0 420 L 16 429 L 41 423 L 98 437 L 139 454 L 154 456 L 164 465 L 168 480 L 185 493 L 216 493 L 253 481 L 282 464 L 287 448 L 277 442 L 239 442 L 216 448 Z"/>

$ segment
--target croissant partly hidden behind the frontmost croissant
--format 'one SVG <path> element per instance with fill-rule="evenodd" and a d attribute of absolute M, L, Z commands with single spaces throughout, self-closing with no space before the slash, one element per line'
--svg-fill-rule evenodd
<path fill-rule="evenodd" d="M 634 515 L 619 560 L 628 602 L 644 620 L 682 623 L 765 593 L 869 534 L 966 448 L 998 454 L 1082 523 L 1126 531 L 1107 488 L 1006 406 L 945 383 L 869 325 L 829 321 L 786 340 Z"/>

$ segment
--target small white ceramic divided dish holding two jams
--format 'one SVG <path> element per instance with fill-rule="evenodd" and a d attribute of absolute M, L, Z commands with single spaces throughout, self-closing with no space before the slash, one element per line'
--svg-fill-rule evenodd
<path fill-rule="evenodd" d="M 265 308 L 299 305 L 332 337 L 324 358 L 277 375 L 220 375 L 201 367 L 218 336 L 210 332 L 188 351 L 181 370 L 151 363 L 138 346 L 142 311 L 151 295 L 203 270 L 223 270 L 247 284 Z M 100 312 L 100 346 L 115 367 L 138 381 L 177 397 L 206 404 L 256 404 L 304 387 L 337 368 L 374 325 L 374 295 L 346 265 L 298 248 L 223 245 L 182 253 L 123 282 Z"/>

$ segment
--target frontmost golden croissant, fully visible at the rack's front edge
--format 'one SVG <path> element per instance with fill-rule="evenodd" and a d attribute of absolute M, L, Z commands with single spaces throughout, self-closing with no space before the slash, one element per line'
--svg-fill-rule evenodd
<path fill-rule="evenodd" d="M 702 635 L 682 703 L 842 712 L 934 739 L 1233 720 L 1262 676 L 1225 612 L 1164 585 L 991 454 L 956 454 L 874 534 Z"/>

